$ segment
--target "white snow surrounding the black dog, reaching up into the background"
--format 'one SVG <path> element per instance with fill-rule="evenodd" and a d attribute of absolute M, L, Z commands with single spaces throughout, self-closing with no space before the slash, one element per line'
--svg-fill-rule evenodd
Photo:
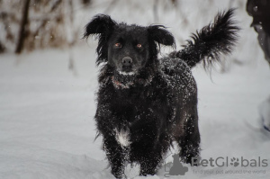
<path fill-rule="evenodd" d="M 177 19 L 175 11 L 167 16 L 159 13 L 158 22 L 165 23 L 175 34 L 177 49 L 190 32 L 210 22 L 218 10 L 227 8 L 229 0 L 212 1 L 215 5 L 207 13 L 202 1 L 195 9 L 193 4 L 198 1 L 189 2 L 183 6 L 183 13 L 190 14 L 189 28 L 183 31 L 183 21 Z M 198 14 L 200 5 L 203 17 Z M 121 4 L 118 6 L 111 10 L 116 20 L 143 25 L 153 22 L 147 4 L 134 14 L 123 8 L 121 14 L 127 16 L 117 13 Z M 248 161 L 260 157 L 267 160 L 267 166 L 188 166 L 188 172 L 181 176 L 167 175 L 168 169 L 163 166 L 158 175 L 147 177 L 138 176 L 138 166 L 128 166 L 129 178 L 270 178 L 270 132 L 263 130 L 258 113 L 259 104 L 270 96 L 270 68 L 257 45 L 257 34 L 248 27 L 251 18 L 243 8 L 237 13 L 241 39 L 236 51 L 227 58 L 226 72 L 217 70 L 209 75 L 202 66 L 193 69 L 199 93 L 202 159 L 229 157 L 230 163 L 232 157 Z M 159 12 L 162 11 L 165 10 Z M 81 19 L 78 27 L 83 29 L 85 22 L 101 12 L 77 12 Z M 147 18 L 136 18 L 141 12 L 147 12 Z M 196 20 L 198 23 L 192 23 Z M 90 39 L 88 45 L 83 41 L 72 49 L 73 70 L 68 69 L 67 49 L 0 55 L 1 179 L 113 178 L 106 168 L 101 138 L 94 141 L 98 68 L 94 64 L 96 42 Z M 175 152 L 172 149 L 168 155 Z M 166 158 L 166 164 L 172 161 L 171 155 Z"/>

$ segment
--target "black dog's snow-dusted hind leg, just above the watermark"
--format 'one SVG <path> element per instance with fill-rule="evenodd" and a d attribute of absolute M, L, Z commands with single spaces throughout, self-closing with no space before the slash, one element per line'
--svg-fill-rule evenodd
<path fill-rule="evenodd" d="M 200 132 L 198 128 L 197 109 L 186 113 L 184 119 L 184 134 L 177 141 L 181 148 L 179 156 L 184 163 L 192 164 L 193 157 L 200 156 Z"/>

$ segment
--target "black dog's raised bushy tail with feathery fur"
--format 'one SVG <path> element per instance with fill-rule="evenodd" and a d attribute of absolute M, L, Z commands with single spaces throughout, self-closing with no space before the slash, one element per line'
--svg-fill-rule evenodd
<path fill-rule="evenodd" d="M 181 58 L 189 67 L 202 61 L 203 67 L 211 67 L 220 62 L 221 55 L 229 54 L 238 40 L 240 30 L 231 20 L 234 9 L 218 13 L 213 23 L 193 33 L 192 40 L 187 40 L 184 49 L 169 54 L 171 58 Z"/>

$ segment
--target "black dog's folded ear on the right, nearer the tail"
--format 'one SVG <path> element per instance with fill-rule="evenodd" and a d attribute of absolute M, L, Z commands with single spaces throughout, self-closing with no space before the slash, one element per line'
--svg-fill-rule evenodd
<path fill-rule="evenodd" d="M 148 33 L 152 40 L 157 41 L 158 44 L 166 46 L 175 46 L 175 38 L 171 32 L 166 31 L 163 25 L 150 25 Z"/>

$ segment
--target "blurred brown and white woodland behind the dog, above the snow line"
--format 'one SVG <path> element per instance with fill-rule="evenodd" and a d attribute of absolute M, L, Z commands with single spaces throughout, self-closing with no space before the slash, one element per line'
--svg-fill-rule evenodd
<path fill-rule="evenodd" d="M 247 15 L 246 3 L 243 0 L 0 0 L 0 53 L 85 45 L 81 40 L 84 26 L 96 13 L 110 14 L 118 22 L 165 24 L 175 35 L 179 49 L 192 32 L 213 21 L 218 11 L 235 7 L 238 8 L 236 21 L 242 31 L 232 60 L 242 63 L 254 60 L 260 50 L 257 34 L 249 28 L 252 19 Z"/>

